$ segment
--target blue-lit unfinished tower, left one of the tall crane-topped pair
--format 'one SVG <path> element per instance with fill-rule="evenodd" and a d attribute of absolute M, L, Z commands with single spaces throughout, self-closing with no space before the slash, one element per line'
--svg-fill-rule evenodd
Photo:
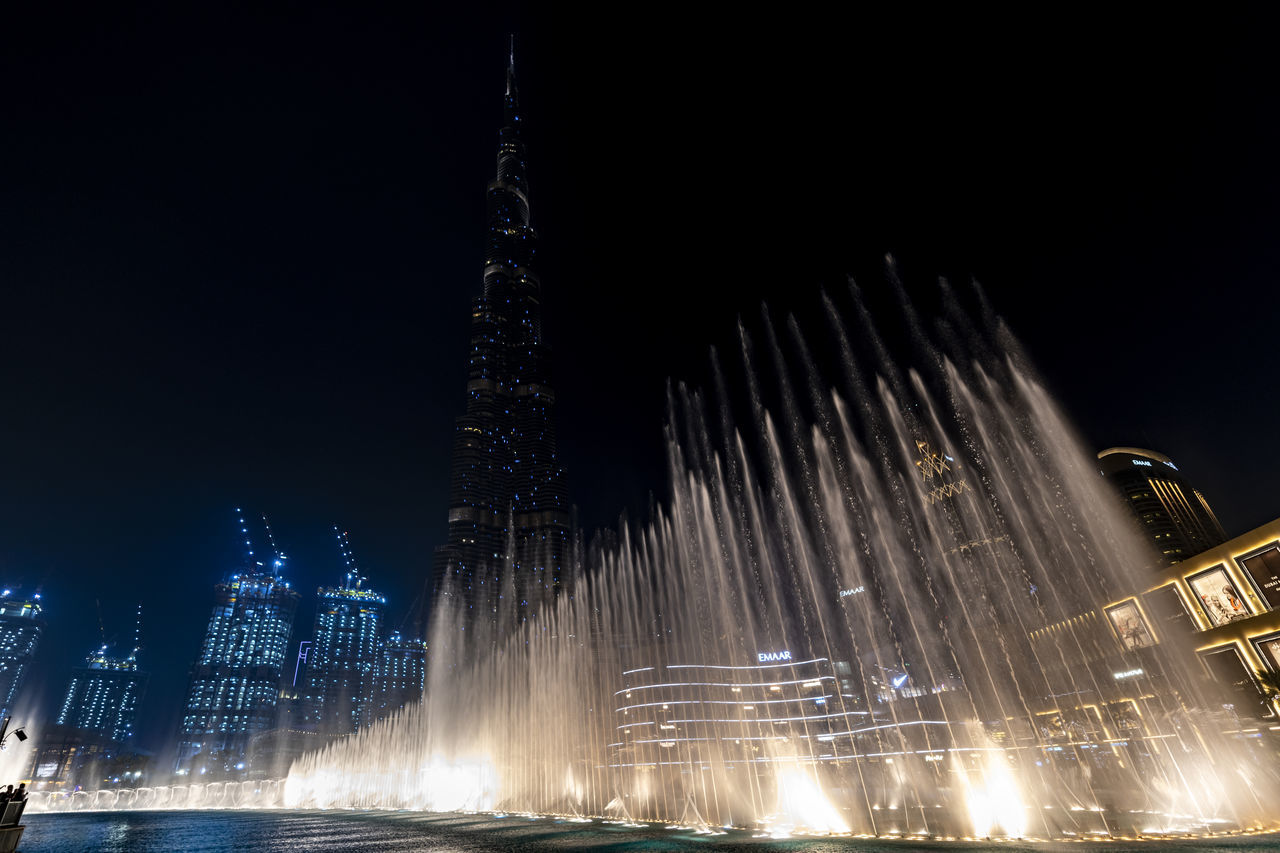
<path fill-rule="evenodd" d="M 246 770 L 250 740 L 275 724 L 298 593 L 283 578 L 285 557 L 275 552 L 268 562 L 257 560 L 243 519 L 241 532 L 244 566 L 214 588 L 214 610 L 192 665 L 178 735 L 179 775 Z"/>

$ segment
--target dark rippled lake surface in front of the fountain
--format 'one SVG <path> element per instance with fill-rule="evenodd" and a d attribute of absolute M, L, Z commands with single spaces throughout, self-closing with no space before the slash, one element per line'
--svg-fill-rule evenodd
<path fill-rule="evenodd" d="M 908 850 L 996 849 L 1015 853 L 1028 845 L 1001 843 L 936 844 L 882 840 L 762 840 L 744 834 L 707 839 L 662 829 L 573 826 L 547 820 L 494 820 L 476 815 L 412 812 L 116 812 L 111 815 L 35 815 L 27 818 L 23 850 L 40 853 L 463 853 L 517 850 L 805 850 L 810 853 L 906 853 Z M 1275 850 L 1280 839 L 1236 838 L 1169 841 L 1176 853 L 1253 853 Z M 1037 847 L 1043 850 L 1046 848 Z M 1048 849 L 1124 853 L 1148 847 L 1075 843 Z"/>

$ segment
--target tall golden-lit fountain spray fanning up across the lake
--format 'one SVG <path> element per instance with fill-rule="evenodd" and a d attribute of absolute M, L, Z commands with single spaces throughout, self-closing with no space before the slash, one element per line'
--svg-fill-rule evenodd
<path fill-rule="evenodd" d="M 794 323 L 786 346 L 765 323 L 763 360 L 742 333 L 748 418 L 718 369 L 713 401 L 675 391 L 654 517 L 580 549 L 558 596 L 517 606 L 511 580 L 480 617 L 438 607 L 424 702 L 300 760 L 284 804 L 934 838 L 1271 825 L 1275 772 L 1222 734 L 1185 638 L 1125 643 L 1102 615 L 1149 555 L 1012 338 L 950 295 L 927 336 L 902 297 L 900 364 L 852 301 L 849 325 L 827 302 L 835 369 Z"/>

